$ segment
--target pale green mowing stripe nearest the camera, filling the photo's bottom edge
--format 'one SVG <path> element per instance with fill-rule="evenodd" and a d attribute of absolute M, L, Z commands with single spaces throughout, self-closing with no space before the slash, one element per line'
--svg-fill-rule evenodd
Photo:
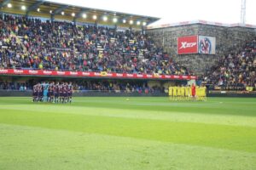
<path fill-rule="evenodd" d="M 0 124 L 1 169 L 247 169 L 255 153 Z"/>

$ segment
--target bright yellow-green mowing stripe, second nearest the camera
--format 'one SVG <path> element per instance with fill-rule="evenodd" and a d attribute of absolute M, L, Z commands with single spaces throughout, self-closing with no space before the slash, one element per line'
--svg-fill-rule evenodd
<path fill-rule="evenodd" d="M 256 127 L 34 111 L 1 111 L 1 123 L 256 151 Z M 246 143 L 246 145 L 245 145 Z"/>

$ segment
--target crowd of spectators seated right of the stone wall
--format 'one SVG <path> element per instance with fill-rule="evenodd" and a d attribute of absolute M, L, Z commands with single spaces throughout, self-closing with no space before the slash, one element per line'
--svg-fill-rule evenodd
<path fill-rule="evenodd" d="M 207 84 L 229 89 L 256 88 L 256 40 L 247 42 L 241 53 L 223 56 L 204 77 Z"/>

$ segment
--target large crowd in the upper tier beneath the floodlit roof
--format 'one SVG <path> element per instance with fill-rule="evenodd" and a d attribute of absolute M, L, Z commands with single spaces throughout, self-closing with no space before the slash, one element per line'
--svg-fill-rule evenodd
<path fill-rule="evenodd" d="M 156 48 L 143 31 L 43 21 L 22 16 L 0 18 L 0 68 L 191 74 Z"/>

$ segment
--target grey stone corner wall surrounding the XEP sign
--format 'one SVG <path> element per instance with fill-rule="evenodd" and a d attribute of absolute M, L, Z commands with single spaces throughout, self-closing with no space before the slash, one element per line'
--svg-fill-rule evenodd
<path fill-rule="evenodd" d="M 165 52 L 171 54 L 176 62 L 188 67 L 196 75 L 205 73 L 218 61 L 220 56 L 241 51 L 247 41 L 256 37 L 256 30 L 253 28 L 204 24 L 156 28 L 146 32 L 154 40 L 156 46 L 163 47 Z M 216 54 L 177 55 L 177 37 L 192 35 L 216 37 Z"/>

